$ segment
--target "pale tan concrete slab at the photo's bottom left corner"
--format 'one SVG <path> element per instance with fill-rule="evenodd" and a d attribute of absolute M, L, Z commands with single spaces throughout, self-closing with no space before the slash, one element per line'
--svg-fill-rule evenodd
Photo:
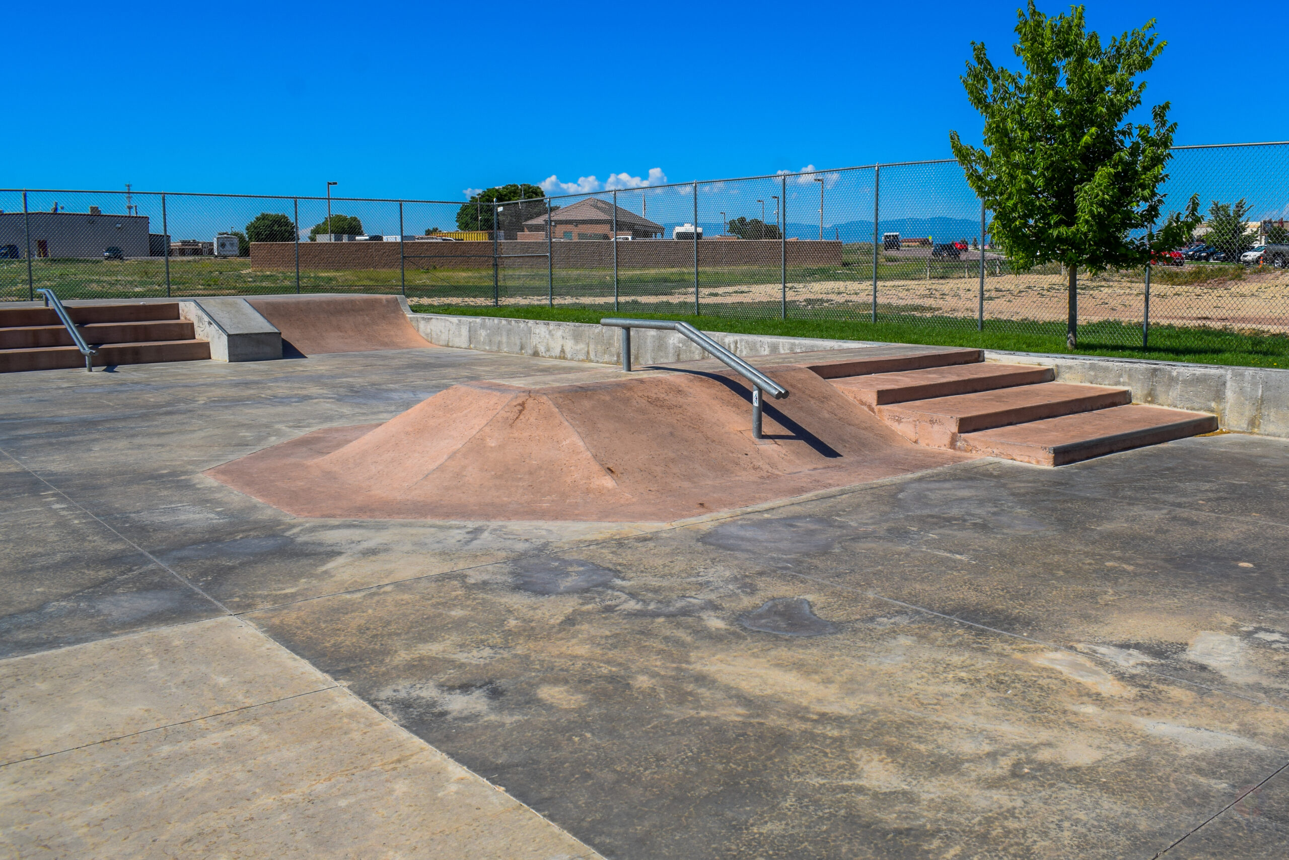
<path fill-rule="evenodd" d="M 18 856 L 594 854 L 331 689 L 0 768 Z"/>

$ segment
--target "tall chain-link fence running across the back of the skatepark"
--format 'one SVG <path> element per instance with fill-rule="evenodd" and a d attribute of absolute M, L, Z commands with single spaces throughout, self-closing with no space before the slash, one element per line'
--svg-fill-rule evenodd
<path fill-rule="evenodd" d="M 1080 273 L 1080 340 L 1286 333 L 1289 143 L 1178 147 L 1168 173 L 1165 209 L 1199 195 L 1205 224 L 1148 271 Z M 0 191 L 0 210 L 6 300 L 363 291 L 1053 335 L 1066 321 L 1066 275 L 991 246 L 953 160 L 495 204 Z"/>

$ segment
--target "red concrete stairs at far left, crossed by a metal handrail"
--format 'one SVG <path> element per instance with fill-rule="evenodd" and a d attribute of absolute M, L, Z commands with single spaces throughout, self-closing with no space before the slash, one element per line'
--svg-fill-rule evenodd
<path fill-rule="evenodd" d="M 210 358 L 210 344 L 179 318 L 177 302 L 67 306 L 67 313 L 98 349 L 94 366 Z M 0 373 L 84 366 L 53 308 L 0 309 Z"/>

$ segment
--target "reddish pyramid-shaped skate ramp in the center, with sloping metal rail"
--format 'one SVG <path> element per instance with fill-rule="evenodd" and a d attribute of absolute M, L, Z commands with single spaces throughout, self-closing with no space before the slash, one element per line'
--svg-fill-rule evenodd
<path fill-rule="evenodd" d="M 759 441 L 732 374 L 482 382 L 208 474 L 305 517 L 666 522 L 969 459 L 909 442 L 803 366 L 773 375 L 793 393 Z"/>

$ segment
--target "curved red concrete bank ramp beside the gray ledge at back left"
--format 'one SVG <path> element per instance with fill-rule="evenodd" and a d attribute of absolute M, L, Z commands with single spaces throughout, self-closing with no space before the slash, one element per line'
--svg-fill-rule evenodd
<path fill-rule="evenodd" d="M 397 295 L 271 295 L 246 300 L 277 326 L 284 342 L 305 356 L 434 346 L 407 321 Z"/>

